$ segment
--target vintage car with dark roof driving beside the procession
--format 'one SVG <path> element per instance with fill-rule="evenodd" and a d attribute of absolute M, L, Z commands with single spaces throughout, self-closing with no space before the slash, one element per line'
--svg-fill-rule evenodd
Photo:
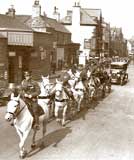
<path fill-rule="evenodd" d="M 128 63 L 126 62 L 112 62 L 110 68 L 111 83 L 123 85 L 128 81 L 127 73 Z"/>

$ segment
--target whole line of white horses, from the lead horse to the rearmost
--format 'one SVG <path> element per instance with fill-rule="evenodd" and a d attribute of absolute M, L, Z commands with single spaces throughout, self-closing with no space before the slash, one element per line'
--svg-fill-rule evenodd
<path fill-rule="evenodd" d="M 69 71 L 69 87 L 65 87 L 64 83 L 58 79 L 56 79 L 55 83 L 50 83 L 49 76 L 42 76 L 42 81 L 39 82 L 41 93 L 38 96 L 38 105 L 43 111 L 39 115 L 43 137 L 45 136 L 46 125 L 52 115 L 62 126 L 66 125 L 68 107 L 70 107 L 69 102 L 72 101 L 71 97 L 73 97 L 73 101 L 76 102 L 75 106 L 71 107 L 75 107 L 77 113 L 81 111 L 81 104 L 85 95 L 86 98 L 93 101 L 98 90 L 102 91 L 103 96 L 107 87 L 110 90 L 109 79 L 102 83 L 98 77 L 94 77 L 88 70 L 86 79 L 87 85 L 84 85 L 80 74 L 81 71 L 77 71 L 75 74 L 73 74 L 71 70 Z M 31 129 L 33 129 L 31 147 L 35 147 L 37 130 L 33 128 L 34 118 L 29 111 L 27 103 L 21 98 L 19 92 L 18 94 L 11 94 L 11 98 L 7 103 L 5 119 L 9 122 L 12 120 L 14 121 L 14 127 L 20 137 L 20 158 L 25 158 L 27 155 L 27 151 L 24 148 L 25 141 Z M 43 141 L 42 145 L 44 145 Z"/>

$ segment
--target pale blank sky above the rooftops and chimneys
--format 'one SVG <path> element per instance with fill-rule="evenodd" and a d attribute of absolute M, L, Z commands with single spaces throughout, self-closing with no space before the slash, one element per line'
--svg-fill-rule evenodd
<path fill-rule="evenodd" d="M 134 35 L 134 0 L 40 0 L 42 13 L 52 17 L 53 8 L 57 6 L 61 17 L 72 9 L 75 1 L 80 1 L 82 8 L 99 8 L 102 16 L 111 27 L 121 27 L 124 37 Z M 14 5 L 16 14 L 31 14 L 34 0 L 0 0 L 0 13 L 5 14 Z"/>

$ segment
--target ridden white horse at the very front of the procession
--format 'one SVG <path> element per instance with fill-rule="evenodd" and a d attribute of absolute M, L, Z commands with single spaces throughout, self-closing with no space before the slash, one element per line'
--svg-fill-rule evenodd
<path fill-rule="evenodd" d="M 25 158 L 27 155 L 27 152 L 24 148 L 25 141 L 32 129 L 34 118 L 32 114 L 30 113 L 27 104 L 23 101 L 23 99 L 20 98 L 20 95 L 14 96 L 14 93 L 11 94 L 11 99 L 7 104 L 7 112 L 5 115 L 5 119 L 10 122 L 14 121 L 14 127 L 16 128 L 16 131 L 20 137 L 19 142 L 19 149 L 20 149 L 20 158 Z M 47 118 L 45 114 L 42 114 L 39 117 L 40 124 L 43 125 L 43 137 L 46 132 L 46 124 L 47 124 Z M 32 139 L 32 145 L 31 147 L 35 147 L 35 136 L 37 133 L 36 129 L 33 129 L 33 139 Z M 42 138 L 43 140 L 43 138 Z M 42 142 L 42 145 L 43 142 Z"/>

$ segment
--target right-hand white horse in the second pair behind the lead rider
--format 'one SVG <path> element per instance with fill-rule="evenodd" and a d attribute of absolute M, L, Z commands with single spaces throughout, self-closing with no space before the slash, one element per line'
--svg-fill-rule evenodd
<path fill-rule="evenodd" d="M 80 78 L 80 71 L 76 71 L 74 78 L 74 85 L 71 86 L 71 91 L 73 92 L 73 96 L 77 102 L 77 111 L 79 112 L 81 109 L 81 102 L 84 98 L 84 92 L 86 91 L 85 86 Z M 72 83 L 73 84 L 73 83 Z"/>

